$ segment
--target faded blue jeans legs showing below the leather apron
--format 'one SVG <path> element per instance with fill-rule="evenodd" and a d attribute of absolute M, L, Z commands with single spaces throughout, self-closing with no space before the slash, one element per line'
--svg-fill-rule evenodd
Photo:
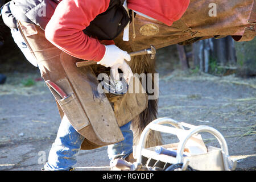
<path fill-rule="evenodd" d="M 130 130 L 130 123 L 120 127 L 125 139 L 108 146 L 110 160 L 118 157 L 126 158 L 133 152 L 133 131 Z M 72 127 L 64 115 L 44 169 L 49 171 L 71 169 L 77 162 L 75 154 L 80 150 L 83 141 L 84 137 Z"/>

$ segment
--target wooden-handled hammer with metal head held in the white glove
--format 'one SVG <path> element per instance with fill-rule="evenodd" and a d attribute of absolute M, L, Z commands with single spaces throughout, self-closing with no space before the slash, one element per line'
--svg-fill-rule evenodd
<path fill-rule="evenodd" d="M 130 56 L 150 55 L 150 59 L 154 59 L 155 54 L 156 54 L 156 49 L 152 45 L 150 46 L 150 48 L 143 49 L 141 51 L 135 51 L 135 52 L 130 52 L 129 53 Z M 81 62 L 77 62 L 76 66 L 77 67 L 85 67 L 85 66 L 88 66 L 88 65 L 96 64 L 96 63 L 97 63 L 96 61 L 81 61 Z"/>

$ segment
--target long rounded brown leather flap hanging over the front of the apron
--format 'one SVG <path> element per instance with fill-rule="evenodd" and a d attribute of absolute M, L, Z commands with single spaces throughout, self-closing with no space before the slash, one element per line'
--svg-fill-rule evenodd
<path fill-rule="evenodd" d="M 108 98 L 97 90 L 98 80 L 92 68 L 78 68 L 77 59 L 64 52 L 60 60 L 96 137 L 105 144 L 123 140 Z"/>

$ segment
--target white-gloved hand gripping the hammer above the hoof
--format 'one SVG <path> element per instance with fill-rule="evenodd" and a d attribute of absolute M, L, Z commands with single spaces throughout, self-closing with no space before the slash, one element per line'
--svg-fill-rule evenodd
<path fill-rule="evenodd" d="M 105 46 L 106 52 L 103 58 L 98 61 L 97 64 L 104 65 L 104 67 L 110 67 L 114 80 L 119 80 L 118 68 L 123 72 L 123 78 L 129 84 L 131 76 L 133 76 L 133 72 L 129 65 L 124 61 L 130 61 L 131 56 L 126 52 L 122 51 L 115 45 Z"/>

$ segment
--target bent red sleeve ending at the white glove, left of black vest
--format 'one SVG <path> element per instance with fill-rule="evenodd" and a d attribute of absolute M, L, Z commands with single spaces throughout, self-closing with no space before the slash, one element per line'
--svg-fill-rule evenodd
<path fill-rule="evenodd" d="M 109 7 L 110 0 L 63 0 L 49 20 L 47 40 L 64 52 L 84 60 L 100 61 L 105 46 L 82 32 Z"/>

